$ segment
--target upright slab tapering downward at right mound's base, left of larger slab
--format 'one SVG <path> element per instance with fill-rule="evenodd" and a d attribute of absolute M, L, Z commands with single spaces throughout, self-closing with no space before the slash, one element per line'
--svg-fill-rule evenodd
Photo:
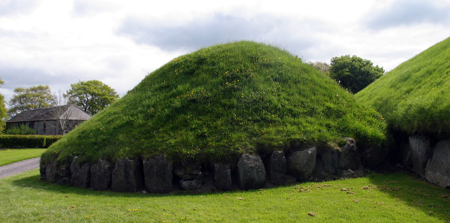
<path fill-rule="evenodd" d="M 410 136 L 409 149 L 414 172 L 420 177 L 424 177 L 426 162 L 428 162 L 431 152 L 429 139 L 423 136 Z"/>

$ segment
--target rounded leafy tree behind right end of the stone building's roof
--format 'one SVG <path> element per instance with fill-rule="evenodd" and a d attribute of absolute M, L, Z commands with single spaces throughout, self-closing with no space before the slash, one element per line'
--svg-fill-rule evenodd
<path fill-rule="evenodd" d="M 70 89 L 66 91 L 65 96 L 68 98 L 68 103 L 81 107 L 91 115 L 103 110 L 119 97 L 114 89 L 99 80 L 70 84 Z"/>

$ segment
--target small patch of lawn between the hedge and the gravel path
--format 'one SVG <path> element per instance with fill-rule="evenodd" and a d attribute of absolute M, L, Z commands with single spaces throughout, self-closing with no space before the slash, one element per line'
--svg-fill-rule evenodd
<path fill-rule="evenodd" d="M 46 149 L 5 149 L 0 150 L 0 166 L 39 157 Z"/>

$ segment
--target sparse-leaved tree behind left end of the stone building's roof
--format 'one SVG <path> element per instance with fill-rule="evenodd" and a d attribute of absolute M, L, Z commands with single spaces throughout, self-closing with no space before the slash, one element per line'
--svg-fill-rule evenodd
<path fill-rule="evenodd" d="M 30 88 L 17 87 L 9 100 L 8 113 L 11 117 L 22 111 L 46 108 L 55 105 L 55 97 L 48 85 L 32 86 Z"/>

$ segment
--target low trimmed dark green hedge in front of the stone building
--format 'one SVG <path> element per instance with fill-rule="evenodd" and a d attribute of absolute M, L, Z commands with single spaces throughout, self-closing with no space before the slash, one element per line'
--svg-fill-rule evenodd
<path fill-rule="evenodd" d="M 0 135 L 0 148 L 24 149 L 24 148 L 48 148 L 62 136 L 41 135 Z"/>

